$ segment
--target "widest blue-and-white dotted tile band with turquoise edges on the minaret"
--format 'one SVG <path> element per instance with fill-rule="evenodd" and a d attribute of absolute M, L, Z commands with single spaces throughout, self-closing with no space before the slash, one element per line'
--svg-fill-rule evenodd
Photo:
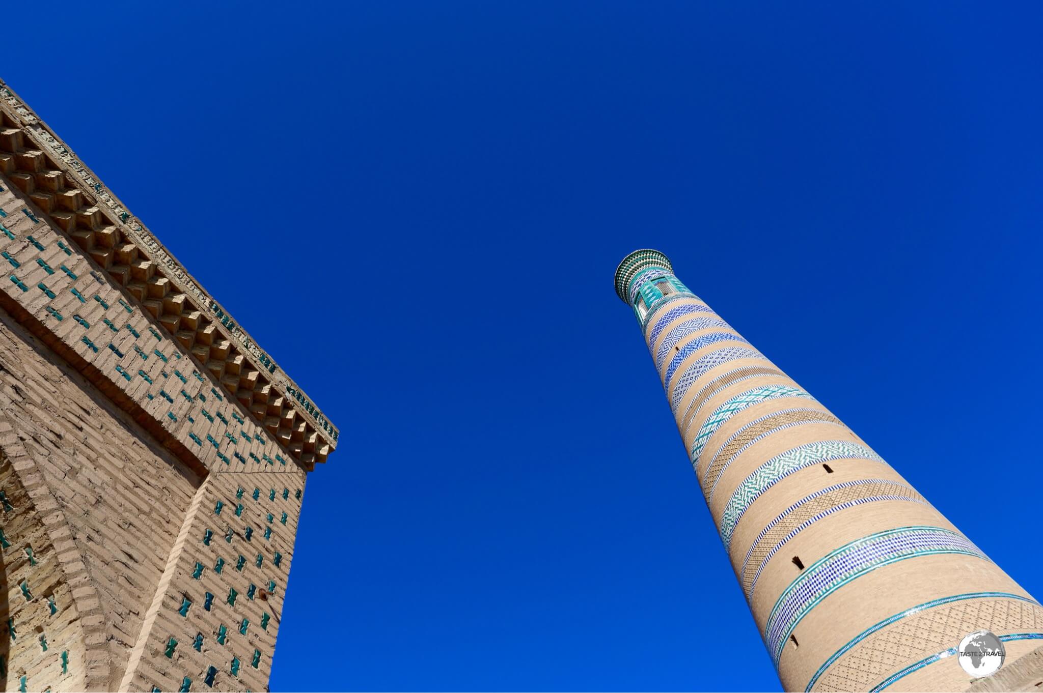
<path fill-rule="evenodd" d="M 765 644 L 775 666 L 794 628 L 827 596 L 877 568 L 935 553 L 964 553 L 989 560 L 961 534 L 916 526 L 863 537 L 816 561 L 782 592 L 768 617 Z"/>

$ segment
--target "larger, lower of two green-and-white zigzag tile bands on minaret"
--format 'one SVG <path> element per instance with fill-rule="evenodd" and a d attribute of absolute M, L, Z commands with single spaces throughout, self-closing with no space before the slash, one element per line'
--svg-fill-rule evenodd
<path fill-rule="evenodd" d="M 725 548 L 731 545 L 731 536 L 743 514 L 760 494 L 790 474 L 832 460 L 872 460 L 887 464 L 880 455 L 865 445 L 850 441 L 821 441 L 807 443 L 775 455 L 747 476 L 728 499 L 721 517 L 721 539 Z"/>

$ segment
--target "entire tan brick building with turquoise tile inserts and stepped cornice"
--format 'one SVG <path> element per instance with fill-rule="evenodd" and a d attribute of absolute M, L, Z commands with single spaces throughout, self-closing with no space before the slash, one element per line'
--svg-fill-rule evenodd
<path fill-rule="evenodd" d="M 0 688 L 264 690 L 339 431 L 2 82 L 0 120 Z"/>

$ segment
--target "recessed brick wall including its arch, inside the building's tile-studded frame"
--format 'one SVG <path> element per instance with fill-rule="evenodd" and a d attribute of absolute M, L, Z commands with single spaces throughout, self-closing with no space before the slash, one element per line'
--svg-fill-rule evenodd
<path fill-rule="evenodd" d="M 46 652 L 37 643 L 23 652 L 34 652 L 39 661 L 19 665 L 30 690 L 115 690 L 141 632 L 143 604 L 155 591 L 199 478 L 3 311 L 0 456 L 10 465 L 0 490 L 18 498 L 0 519 L 10 544 L 3 549 L 0 580 L 17 592 L 27 579 L 29 603 L 47 607 L 8 614 L 0 633 L 14 617 L 18 634 L 40 628 L 47 636 Z M 42 523 L 54 551 L 17 529 L 16 523 L 30 519 Z M 25 548 L 32 549 L 37 566 Z M 29 572 L 20 574 L 22 559 Z M 51 614 L 47 583 L 55 568 L 62 577 Z M 19 599 L 25 603 L 21 592 L 8 594 L 7 603 Z M 78 623 L 81 635 L 66 622 Z M 0 644 L 0 654 L 2 649 Z M 51 678 L 55 670 L 41 665 L 67 649 L 67 671 Z M 7 680 L 17 687 L 17 678 Z"/>

